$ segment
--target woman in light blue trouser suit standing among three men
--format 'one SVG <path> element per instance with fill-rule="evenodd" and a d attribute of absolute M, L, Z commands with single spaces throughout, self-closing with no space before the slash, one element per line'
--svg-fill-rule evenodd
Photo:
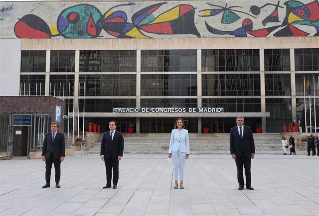
<path fill-rule="evenodd" d="M 184 165 L 185 159 L 189 156 L 189 141 L 188 141 L 188 131 L 184 129 L 184 121 L 182 119 L 177 119 L 175 122 L 175 129 L 171 131 L 170 143 L 168 149 L 168 158 L 172 157 L 174 166 L 174 179 L 175 187 L 178 188 L 178 170 L 180 179 L 180 189 L 184 189 Z"/>

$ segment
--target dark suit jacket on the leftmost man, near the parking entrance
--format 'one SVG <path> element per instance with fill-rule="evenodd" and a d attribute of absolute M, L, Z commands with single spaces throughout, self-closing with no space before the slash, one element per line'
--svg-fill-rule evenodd
<path fill-rule="evenodd" d="M 42 148 L 42 156 L 45 156 L 45 159 L 48 159 L 51 152 L 53 153 L 53 158 L 55 160 L 60 159 L 61 156 L 65 157 L 64 134 L 57 132 L 53 142 L 52 132 L 45 135 Z"/>

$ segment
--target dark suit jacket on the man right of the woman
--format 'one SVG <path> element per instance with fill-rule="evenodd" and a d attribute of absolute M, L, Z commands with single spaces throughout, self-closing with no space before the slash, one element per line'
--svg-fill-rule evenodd
<path fill-rule="evenodd" d="M 236 154 L 236 157 L 241 156 L 241 148 L 245 156 L 250 156 L 255 153 L 255 142 L 251 128 L 244 125 L 243 139 L 240 138 L 237 125 L 230 129 L 230 153 Z"/>

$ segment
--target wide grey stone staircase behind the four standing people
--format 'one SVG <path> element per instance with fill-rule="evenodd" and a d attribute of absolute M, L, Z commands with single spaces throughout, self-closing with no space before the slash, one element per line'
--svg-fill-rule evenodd
<path fill-rule="evenodd" d="M 123 134 L 125 151 L 163 151 L 167 152 L 170 134 Z M 256 151 L 282 150 L 279 133 L 253 134 Z M 102 137 L 93 148 L 100 153 Z M 190 151 L 229 151 L 229 134 L 189 134 Z"/>

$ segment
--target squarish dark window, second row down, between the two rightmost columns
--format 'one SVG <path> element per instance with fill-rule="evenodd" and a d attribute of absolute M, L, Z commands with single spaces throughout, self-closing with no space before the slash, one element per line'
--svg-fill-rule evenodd
<path fill-rule="evenodd" d="M 290 74 L 265 74 L 266 95 L 291 95 Z"/>

